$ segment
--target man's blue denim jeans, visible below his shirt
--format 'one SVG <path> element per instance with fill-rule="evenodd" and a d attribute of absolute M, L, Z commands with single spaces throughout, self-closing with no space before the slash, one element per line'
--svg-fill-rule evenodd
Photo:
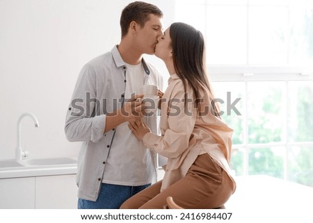
<path fill-rule="evenodd" d="M 129 197 L 136 195 L 136 193 L 150 186 L 126 186 L 126 185 L 113 185 L 109 183 L 102 183 L 101 190 L 97 201 L 89 201 L 79 198 L 79 209 L 118 209 L 120 206 L 129 199 Z"/>

